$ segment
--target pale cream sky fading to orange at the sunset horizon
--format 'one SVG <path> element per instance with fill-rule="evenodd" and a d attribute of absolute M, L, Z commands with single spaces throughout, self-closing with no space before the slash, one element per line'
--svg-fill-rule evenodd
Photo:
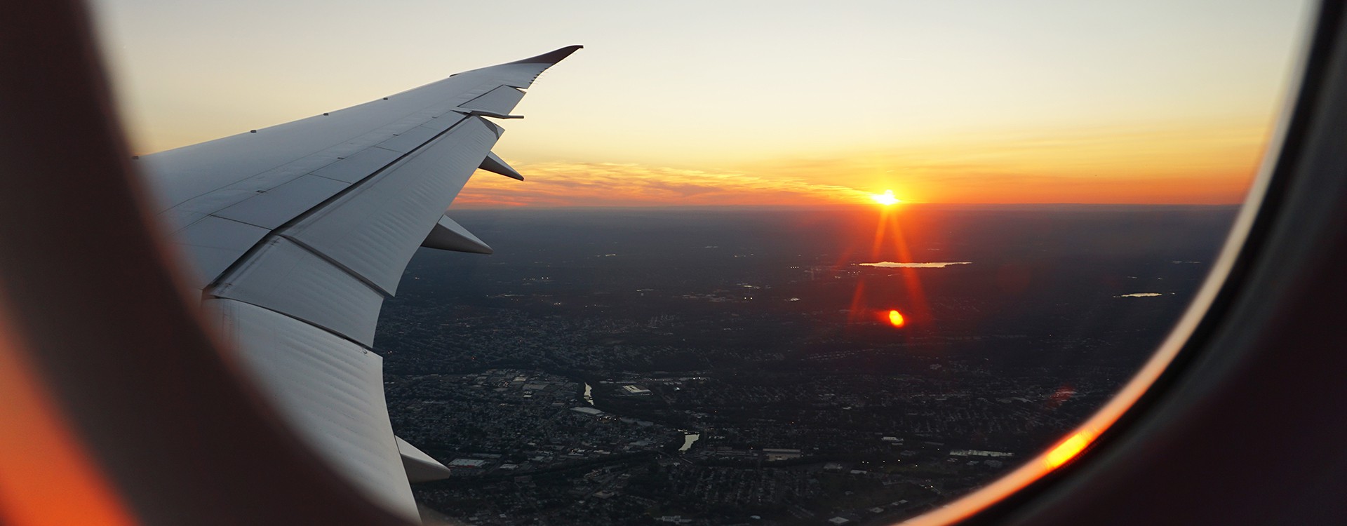
<path fill-rule="evenodd" d="M 132 149 L 568 44 L 455 207 L 1238 203 L 1304 1 L 97 0 Z"/>

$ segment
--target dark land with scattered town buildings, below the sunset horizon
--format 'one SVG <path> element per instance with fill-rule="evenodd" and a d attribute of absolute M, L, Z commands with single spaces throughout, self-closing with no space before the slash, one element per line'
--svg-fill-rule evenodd
<path fill-rule="evenodd" d="M 419 500 L 465 523 L 884 523 L 1107 401 L 1234 213 L 457 211 L 496 254 L 418 253 L 376 348 L 397 435 L 453 463 Z"/>

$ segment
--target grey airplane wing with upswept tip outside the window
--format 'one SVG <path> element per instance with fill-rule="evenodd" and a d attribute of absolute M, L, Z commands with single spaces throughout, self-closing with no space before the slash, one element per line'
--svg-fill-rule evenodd
<path fill-rule="evenodd" d="M 295 430 L 376 502 L 416 521 L 408 476 L 447 469 L 396 439 L 373 352 L 384 297 L 419 246 L 490 253 L 445 209 L 547 67 L 581 46 L 135 161 L 193 287 Z M 405 467 L 404 467 L 405 465 Z"/>

